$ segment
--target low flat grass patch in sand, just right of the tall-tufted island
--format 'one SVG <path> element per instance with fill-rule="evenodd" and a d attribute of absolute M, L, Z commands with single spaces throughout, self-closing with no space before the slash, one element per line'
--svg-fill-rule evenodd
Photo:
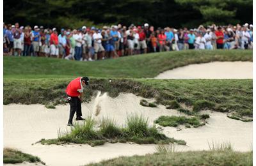
<path fill-rule="evenodd" d="M 154 123 L 157 123 L 161 126 L 171 126 L 177 127 L 180 124 L 184 125 L 192 125 L 194 127 L 198 127 L 201 125 L 200 119 L 198 117 L 185 117 L 185 116 L 160 116 L 158 117 Z"/>

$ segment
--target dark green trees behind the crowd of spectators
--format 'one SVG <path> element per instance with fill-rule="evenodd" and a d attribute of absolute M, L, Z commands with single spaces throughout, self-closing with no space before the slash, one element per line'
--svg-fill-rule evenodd
<path fill-rule="evenodd" d="M 4 1 L 4 22 L 45 27 L 144 24 L 155 27 L 252 23 L 252 0 Z"/>

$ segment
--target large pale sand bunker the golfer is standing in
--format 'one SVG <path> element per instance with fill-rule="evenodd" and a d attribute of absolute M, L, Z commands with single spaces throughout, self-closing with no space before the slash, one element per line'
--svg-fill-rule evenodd
<path fill-rule="evenodd" d="M 113 117 L 119 125 L 124 124 L 127 114 L 132 112 L 147 116 L 150 124 L 161 115 L 180 116 L 176 110 L 142 107 L 141 97 L 134 94 L 120 94 L 110 98 L 106 94 L 90 103 L 83 103 L 83 116 L 93 114 L 95 102 L 100 104 L 100 117 Z M 99 162 L 118 156 L 145 155 L 154 153 L 156 145 L 105 144 L 91 147 L 88 145 L 41 145 L 36 141 L 57 138 L 58 129 L 65 130 L 69 105 L 58 105 L 56 109 L 46 109 L 44 105 L 4 105 L 4 147 L 13 147 L 36 155 L 47 165 L 83 165 Z M 252 122 L 243 123 L 228 119 L 225 114 L 210 114 L 209 124 L 200 128 L 185 129 L 164 128 L 164 133 L 175 139 L 186 140 L 188 146 L 177 146 L 178 151 L 189 149 L 208 149 L 207 140 L 229 140 L 235 149 L 248 151 L 252 144 Z"/>

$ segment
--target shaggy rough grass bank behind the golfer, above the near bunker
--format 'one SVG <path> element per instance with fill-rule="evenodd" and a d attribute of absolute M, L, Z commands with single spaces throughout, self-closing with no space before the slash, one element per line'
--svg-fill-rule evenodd
<path fill-rule="evenodd" d="M 65 103 L 65 88 L 69 81 L 4 79 L 4 104 Z M 90 82 L 90 88 L 84 91 L 84 102 L 89 102 L 95 91 L 108 92 L 112 97 L 118 93 L 134 93 L 144 98 L 155 98 L 157 104 L 175 107 L 173 109 L 189 115 L 205 109 L 232 112 L 241 119 L 253 114 L 252 80 L 113 79 L 109 82 L 108 79 L 92 79 Z"/>

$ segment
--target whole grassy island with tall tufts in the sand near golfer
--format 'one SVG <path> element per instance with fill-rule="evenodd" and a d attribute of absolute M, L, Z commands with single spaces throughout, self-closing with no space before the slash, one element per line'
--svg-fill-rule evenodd
<path fill-rule="evenodd" d="M 186 145 L 184 140 L 175 140 L 159 133 L 156 126 L 148 126 L 148 119 L 143 116 L 130 115 L 125 127 L 118 127 L 113 119 L 102 119 L 99 128 L 96 121 L 87 117 L 83 124 L 75 124 L 70 132 L 59 132 L 58 139 L 42 139 L 41 144 L 90 144 L 103 145 L 105 142 L 135 142 L 136 144 L 177 144 Z"/>

